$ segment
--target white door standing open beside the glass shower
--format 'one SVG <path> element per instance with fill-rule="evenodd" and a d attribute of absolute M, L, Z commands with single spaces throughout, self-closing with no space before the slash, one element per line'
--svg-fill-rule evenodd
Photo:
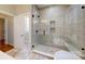
<path fill-rule="evenodd" d="M 14 17 L 14 44 L 18 50 L 16 57 L 29 59 L 29 15 L 20 14 Z"/>

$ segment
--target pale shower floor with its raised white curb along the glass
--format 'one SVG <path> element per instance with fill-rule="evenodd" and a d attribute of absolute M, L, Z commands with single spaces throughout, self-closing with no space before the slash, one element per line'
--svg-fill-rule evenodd
<path fill-rule="evenodd" d="M 45 55 L 47 57 L 53 57 L 55 56 L 55 53 L 59 51 L 59 48 L 54 48 L 54 47 L 48 47 L 48 46 L 43 46 L 43 44 L 38 44 L 32 49 L 32 52 Z"/>

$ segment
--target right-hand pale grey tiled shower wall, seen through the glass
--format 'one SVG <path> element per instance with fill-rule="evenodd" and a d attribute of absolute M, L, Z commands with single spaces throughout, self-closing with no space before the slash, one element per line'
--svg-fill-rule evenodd
<path fill-rule="evenodd" d="M 77 48 L 77 50 L 82 51 L 82 48 L 85 47 L 85 9 L 82 9 L 83 5 L 71 5 L 68 10 L 69 27 L 70 27 L 70 38 L 73 41 L 73 46 Z M 84 51 L 82 51 L 84 52 Z"/>

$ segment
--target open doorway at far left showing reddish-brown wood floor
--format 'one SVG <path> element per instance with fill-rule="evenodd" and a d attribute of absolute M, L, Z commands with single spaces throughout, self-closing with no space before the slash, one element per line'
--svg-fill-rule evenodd
<path fill-rule="evenodd" d="M 9 44 L 6 41 L 8 35 L 8 24 L 5 26 L 5 18 L 0 18 L 0 51 L 8 52 L 12 50 L 14 47 Z"/>

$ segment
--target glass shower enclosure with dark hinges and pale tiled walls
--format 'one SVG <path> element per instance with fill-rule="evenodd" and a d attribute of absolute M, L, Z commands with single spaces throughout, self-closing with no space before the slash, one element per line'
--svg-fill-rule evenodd
<path fill-rule="evenodd" d="M 59 50 L 83 54 L 85 13 L 81 7 L 32 5 L 32 50 L 52 56 Z"/>

